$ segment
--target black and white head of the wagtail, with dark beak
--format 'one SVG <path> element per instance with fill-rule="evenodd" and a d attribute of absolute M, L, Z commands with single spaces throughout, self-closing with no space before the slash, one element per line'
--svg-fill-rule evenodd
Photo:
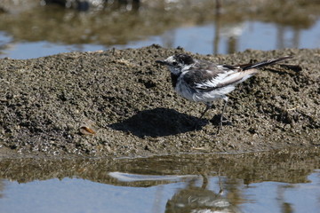
<path fill-rule="evenodd" d="M 167 66 L 173 75 L 180 75 L 183 69 L 194 64 L 195 60 L 187 54 L 177 54 L 164 60 L 156 60 L 156 63 Z"/>

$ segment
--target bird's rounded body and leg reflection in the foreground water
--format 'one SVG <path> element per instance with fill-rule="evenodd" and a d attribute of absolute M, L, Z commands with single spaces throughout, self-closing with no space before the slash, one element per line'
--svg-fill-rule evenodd
<path fill-rule="evenodd" d="M 196 186 L 196 179 L 188 182 L 186 188 L 179 190 L 167 201 L 166 213 L 210 213 L 210 212 L 241 212 L 223 196 L 223 188 L 219 177 L 220 192 L 207 189 L 208 177 L 203 177 L 203 184 Z"/>

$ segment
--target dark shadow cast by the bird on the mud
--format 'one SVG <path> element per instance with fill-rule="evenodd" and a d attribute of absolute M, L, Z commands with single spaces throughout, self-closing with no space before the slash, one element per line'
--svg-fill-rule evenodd
<path fill-rule="evenodd" d="M 140 138 L 146 136 L 161 137 L 176 135 L 187 131 L 201 130 L 208 123 L 188 114 L 181 114 L 174 109 L 155 108 L 140 111 L 123 122 L 109 125 L 114 130 L 131 132 Z"/>

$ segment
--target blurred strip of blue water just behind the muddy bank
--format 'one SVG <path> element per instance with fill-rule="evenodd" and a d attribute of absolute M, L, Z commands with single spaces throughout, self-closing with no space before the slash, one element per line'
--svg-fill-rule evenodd
<path fill-rule="evenodd" d="M 111 48 L 126 49 L 140 48 L 153 43 L 158 43 L 163 47 L 176 48 L 184 47 L 186 51 L 200 54 L 227 54 L 246 49 L 270 51 L 283 48 L 320 48 L 320 20 L 312 28 L 295 30 L 293 28 L 283 28 L 272 23 L 260 21 L 246 21 L 233 27 L 236 36 L 221 33 L 219 40 L 214 38 L 215 28 L 212 24 L 204 26 L 175 28 L 165 32 L 163 35 L 150 36 L 143 41 L 130 41 L 123 45 L 105 46 L 101 44 L 60 44 L 50 42 L 20 42 L 14 43 L 10 50 L 5 50 L 1 58 L 12 59 L 32 59 L 42 56 L 58 54 L 68 51 L 100 51 Z M 279 36 L 280 32 L 281 36 Z M 171 37 L 171 41 L 166 41 L 165 37 Z M 12 37 L 0 34 L 0 40 L 11 43 Z M 268 42 L 261 42 L 268 41 Z M 214 43 L 217 43 L 216 47 Z M 28 51 L 28 54 L 25 52 Z"/>

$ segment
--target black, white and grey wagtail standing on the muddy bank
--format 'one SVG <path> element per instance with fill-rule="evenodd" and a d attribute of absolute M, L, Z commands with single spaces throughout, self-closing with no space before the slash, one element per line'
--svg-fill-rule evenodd
<path fill-rule="evenodd" d="M 156 63 L 165 65 L 170 69 L 172 86 L 177 93 L 185 99 L 204 102 L 206 108 L 200 119 L 212 107 L 212 101 L 223 99 L 225 104 L 220 116 L 222 127 L 223 114 L 226 111 L 229 92 L 236 89 L 236 84 L 244 82 L 259 72 L 257 68 L 276 64 L 276 62 L 290 59 L 286 56 L 279 59 L 268 59 L 259 63 L 244 65 L 217 65 L 200 59 L 193 59 L 187 54 L 177 54 Z"/>

